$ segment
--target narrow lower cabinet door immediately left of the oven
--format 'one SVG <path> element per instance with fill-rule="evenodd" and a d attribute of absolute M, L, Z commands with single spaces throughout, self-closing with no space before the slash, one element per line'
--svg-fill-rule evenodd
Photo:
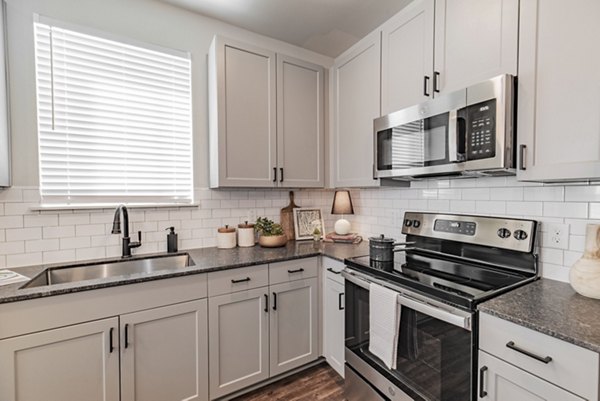
<path fill-rule="evenodd" d="M 344 377 L 344 285 L 326 278 L 323 287 L 325 358 L 329 365 Z"/>

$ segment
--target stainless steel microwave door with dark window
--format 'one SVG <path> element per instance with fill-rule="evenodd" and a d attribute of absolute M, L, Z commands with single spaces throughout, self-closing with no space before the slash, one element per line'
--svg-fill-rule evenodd
<path fill-rule="evenodd" d="M 457 91 L 374 121 L 375 178 L 460 172 L 465 153 L 458 110 L 466 91 Z"/>

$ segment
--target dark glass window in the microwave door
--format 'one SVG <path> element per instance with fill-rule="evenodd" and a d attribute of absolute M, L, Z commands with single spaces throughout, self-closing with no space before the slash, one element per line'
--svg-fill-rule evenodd
<path fill-rule="evenodd" d="M 379 171 L 448 163 L 449 113 L 377 133 Z"/>

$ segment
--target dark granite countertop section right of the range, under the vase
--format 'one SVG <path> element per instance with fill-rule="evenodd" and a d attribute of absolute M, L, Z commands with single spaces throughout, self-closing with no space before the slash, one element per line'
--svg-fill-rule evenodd
<path fill-rule="evenodd" d="M 540 279 L 479 305 L 479 310 L 600 352 L 600 300 L 568 283 Z"/>

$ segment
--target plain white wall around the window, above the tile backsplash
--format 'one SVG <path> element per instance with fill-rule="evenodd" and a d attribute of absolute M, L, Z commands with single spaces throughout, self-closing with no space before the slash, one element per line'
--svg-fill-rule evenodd
<path fill-rule="evenodd" d="M 333 60 L 153 0 L 7 0 L 13 184 L 37 186 L 33 14 L 192 54 L 195 187 L 208 186 L 207 52 L 215 34 L 321 64 Z"/>

